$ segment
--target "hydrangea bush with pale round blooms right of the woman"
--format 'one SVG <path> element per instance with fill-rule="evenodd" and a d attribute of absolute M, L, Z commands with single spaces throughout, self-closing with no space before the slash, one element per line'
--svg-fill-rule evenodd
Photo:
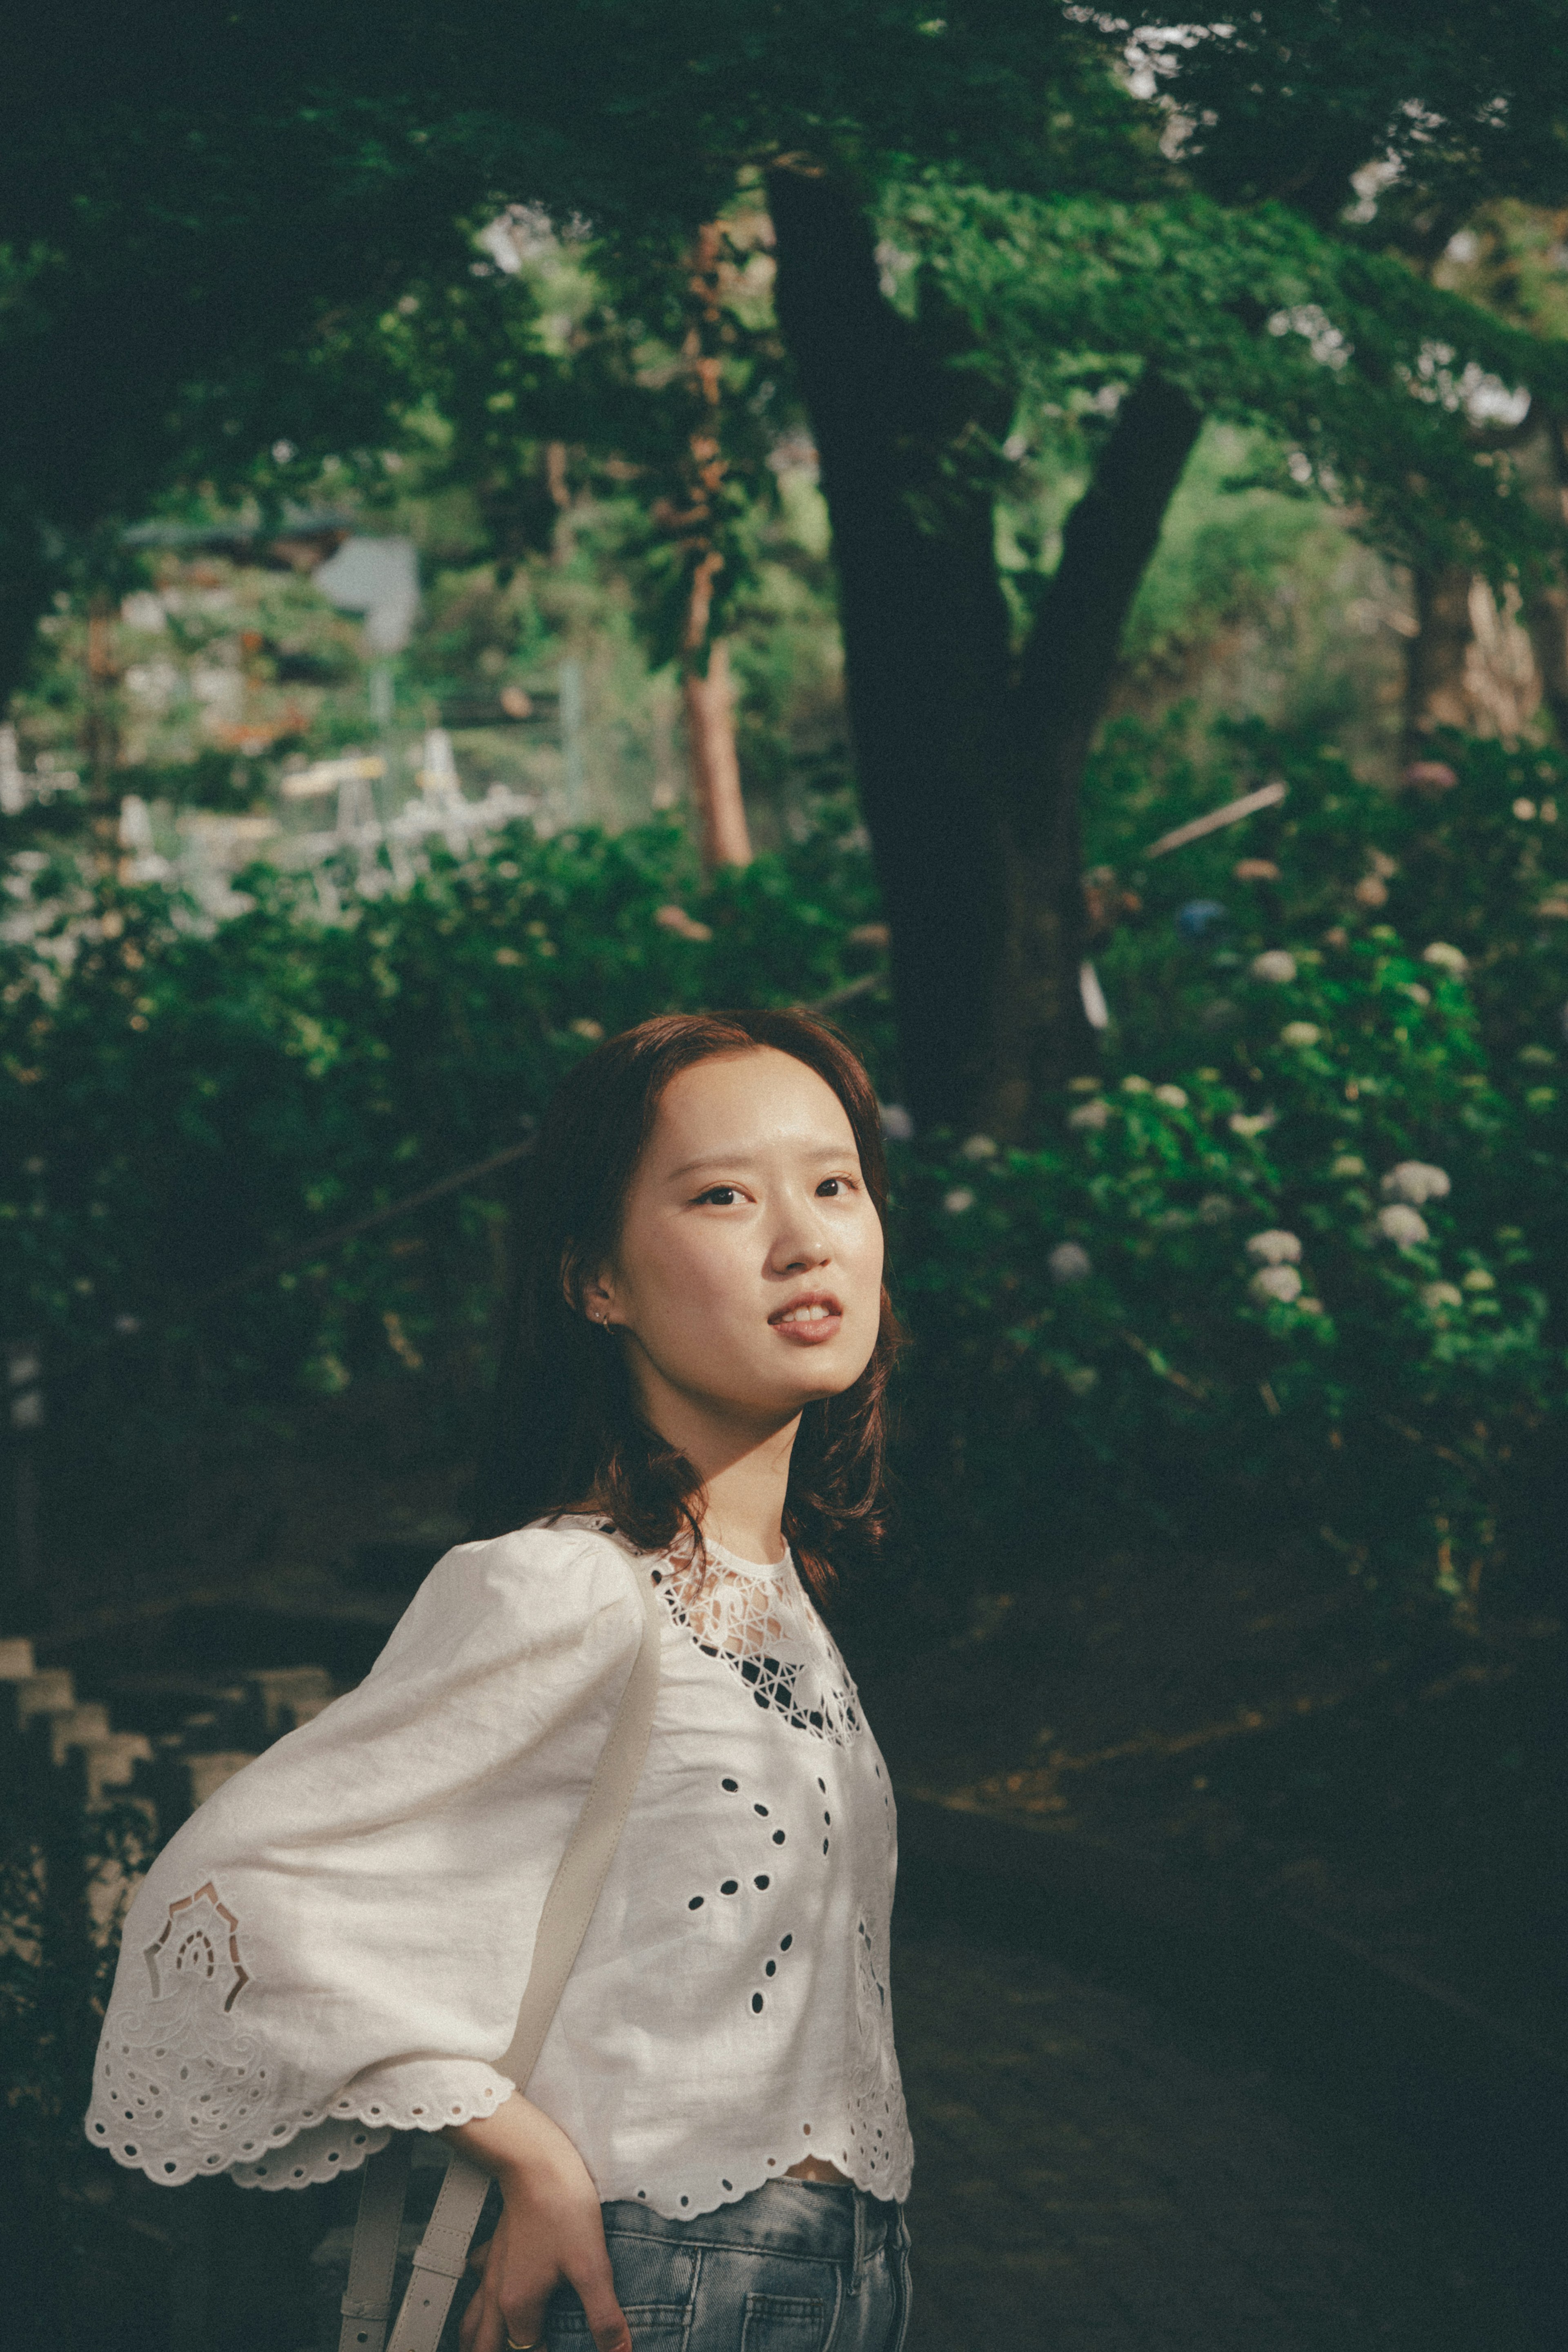
<path fill-rule="evenodd" d="M 1227 779 L 1112 743 L 1103 1065 L 1027 1150 L 900 1155 L 917 1458 L 966 1510 L 1291 1531 L 1460 1611 L 1556 1557 L 1568 771 L 1443 748 L 1380 793 L 1241 731 L 1234 793 L 1288 797 L 1150 861 Z"/>

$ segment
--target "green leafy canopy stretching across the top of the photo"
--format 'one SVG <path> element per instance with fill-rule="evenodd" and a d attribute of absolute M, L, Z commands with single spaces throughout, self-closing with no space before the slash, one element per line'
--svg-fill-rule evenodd
<path fill-rule="evenodd" d="M 1262 419 L 1387 543 L 1460 539 L 1507 567 L 1542 532 L 1507 452 L 1469 442 L 1467 369 L 1540 397 L 1561 367 L 1406 256 L 1425 266 L 1493 200 L 1561 198 L 1556 31 L 1552 0 L 1281 0 L 1135 38 L 1013 0 L 745 0 L 722 19 L 536 0 L 440 24 L 395 5 L 371 35 L 341 5 L 179 0 L 155 26 L 87 9 L 89 64 L 61 78 L 52 28 L 19 28 L 0 101 L 0 670 L 52 588 L 125 586 L 120 520 L 197 482 L 277 503 L 324 459 L 374 475 L 374 452 L 428 440 L 430 402 L 503 560 L 548 534 L 543 440 L 654 487 L 677 475 L 701 409 L 670 365 L 689 245 L 780 158 L 912 240 L 971 322 L 959 365 L 1044 407 L 1159 365 L 1215 416 Z M 1375 198 L 1352 186 L 1366 169 Z M 508 202 L 592 223 L 576 278 L 557 266 L 541 289 L 475 256 Z M 724 329 L 722 597 L 788 402 L 755 280 Z"/>

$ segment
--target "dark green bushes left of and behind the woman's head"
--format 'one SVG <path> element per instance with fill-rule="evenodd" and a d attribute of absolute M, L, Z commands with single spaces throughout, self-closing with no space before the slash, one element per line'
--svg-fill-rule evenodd
<path fill-rule="evenodd" d="M 252 913 L 202 936 L 162 889 L 33 875 L 42 929 L 9 955 L 0 1054 L 7 1329 L 73 1348 L 113 1317 L 162 1319 L 169 1298 L 505 1145 L 604 1030 L 830 993 L 872 910 L 865 854 L 830 833 L 698 898 L 686 837 L 661 823 L 512 828 L 402 898 L 355 903 L 343 873 L 343 924 L 313 920 L 310 882 L 242 880 Z M 708 936 L 661 924 L 672 906 Z M 494 1282 L 484 1261 L 465 1272 L 477 1303 L 423 1251 L 350 1251 L 237 1301 L 212 1336 L 242 1381 L 303 1362 L 331 1385 L 362 1331 L 390 1362 L 388 1315 L 404 1362 L 433 1334 L 461 1345 Z"/>

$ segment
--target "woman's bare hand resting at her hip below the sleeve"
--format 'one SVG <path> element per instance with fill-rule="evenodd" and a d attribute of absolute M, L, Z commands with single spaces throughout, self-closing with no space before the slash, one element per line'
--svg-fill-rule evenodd
<path fill-rule="evenodd" d="M 503 2199 L 496 2234 L 470 2256 L 484 2279 L 463 2312 L 463 2352 L 505 2352 L 508 2338 L 536 2345 L 562 2279 L 583 2298 L 597 2352 L 630 2352 L 599 2194 L 559 2124 L 515 2091 L 496 2114 L 454 2124 L 442 2138 L 494 2173 Z"/>

